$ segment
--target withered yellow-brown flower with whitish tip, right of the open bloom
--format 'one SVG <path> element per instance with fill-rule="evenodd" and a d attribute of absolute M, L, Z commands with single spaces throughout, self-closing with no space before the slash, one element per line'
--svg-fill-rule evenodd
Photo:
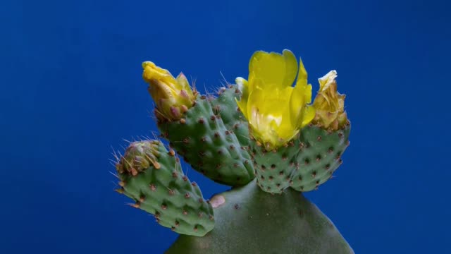
<path fill-rule="evenodd" d="M 313 102 L 313 107 L 316 109 L 313 123 L 330 130 L 338 130 L 347 123 L 346 96 L 337 92 L 335 78 L 337 78 L 337 71 L 329 71 L 319 78 L 319 92 Z"/>

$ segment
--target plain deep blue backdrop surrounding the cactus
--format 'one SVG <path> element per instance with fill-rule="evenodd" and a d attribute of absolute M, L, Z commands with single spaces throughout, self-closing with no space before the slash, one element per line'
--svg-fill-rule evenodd
<path fill-rule="evenodd" d="M 307 197 L 356 253 L 451 253 L 446 2 L 1 1 L 0 253 L 168 248 L 109 173 L 124 138 L 156 131 L 141 62 L 204 92 L 285 48 L 314 92 L 338 71 L 352 121 L 337 177 Z M 227 189 L 189 175 L 207 198 Z"/>

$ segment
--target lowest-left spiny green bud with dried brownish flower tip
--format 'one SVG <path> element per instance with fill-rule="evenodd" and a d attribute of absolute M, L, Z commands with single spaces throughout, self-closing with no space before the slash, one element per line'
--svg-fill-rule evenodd
<path fill-rule="evenodd" d="M 154 214 L 156 222 L 179 234 L 204 236 L 214 228 L 214 213 L 196 183 L 183 174 L 173 150 L 158 140 L 130 143 L 116 165 L 118 193 L 132 207 Z"/>

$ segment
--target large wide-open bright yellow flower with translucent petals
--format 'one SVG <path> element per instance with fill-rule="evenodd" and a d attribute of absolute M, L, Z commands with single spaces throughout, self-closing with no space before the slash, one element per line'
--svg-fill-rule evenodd
<path fill-rule="evenodd" d="M 296 79 L 295 87 L 292 87 Z M 307 71 L 290 50 L 255 52 L 249 61 L 249 81 L 237 78 L 242 90 L 238 107 L 245 115 L 252 135 L 267 150 L 288 143 L 315 116 Z"/>

